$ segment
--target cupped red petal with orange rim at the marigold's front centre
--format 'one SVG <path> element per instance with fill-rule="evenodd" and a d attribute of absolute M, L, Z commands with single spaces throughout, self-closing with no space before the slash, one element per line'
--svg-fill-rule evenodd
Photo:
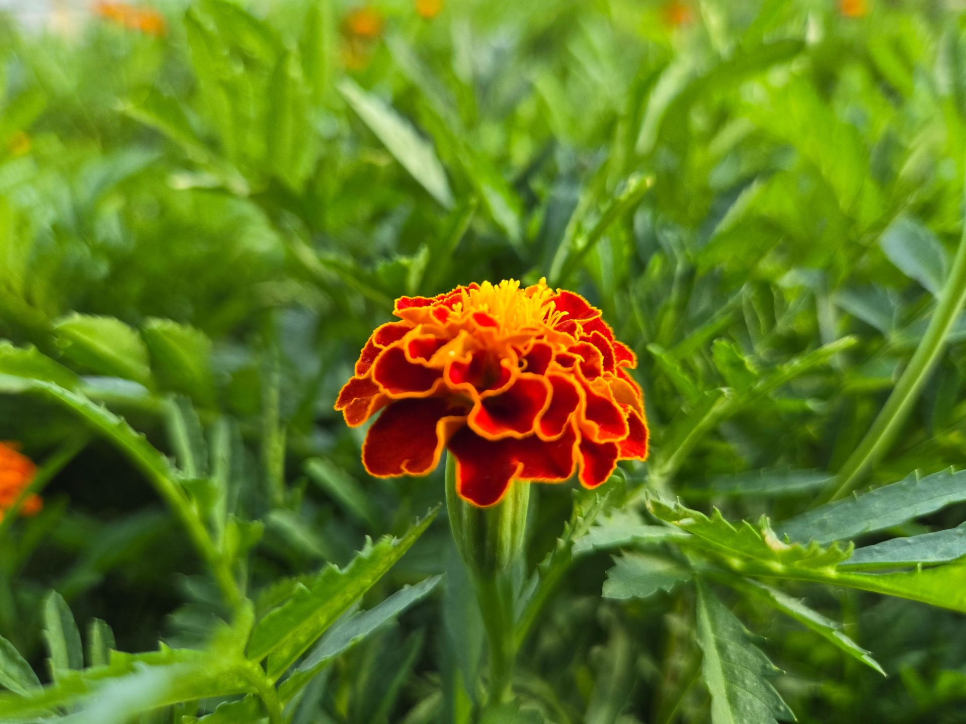
<path fill-rule="evenodd" d="M 498 395 L 483 398 L 469 413 L 469 427 L 483 437 L 520 437 L 534 431 L 537 417 L 550 404 L 550 383 L 526 373 Z"/>

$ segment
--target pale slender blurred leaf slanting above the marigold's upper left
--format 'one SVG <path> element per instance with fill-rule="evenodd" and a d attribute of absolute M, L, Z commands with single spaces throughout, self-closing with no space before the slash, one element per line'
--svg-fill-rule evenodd
<path fill-rule="evenodd" d="M 412 178 L 419 181 L 444 208 L 452 209 L 453 194 L 433 146 L 391 106 L 363 91 L 353 80 L 343 78 L 337 88 Z"/>

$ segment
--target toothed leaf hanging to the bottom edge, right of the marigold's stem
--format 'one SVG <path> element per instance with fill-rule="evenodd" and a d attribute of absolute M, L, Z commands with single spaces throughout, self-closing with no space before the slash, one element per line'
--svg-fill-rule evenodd
<path fill-rule="evenodd" d="M 779 669 L 745 628 L 703 584 L 697 587 L 697 644 L 701 676 L 711 694 L 712 724 L 774 724 L 794 720 L 769 677 Z"/>

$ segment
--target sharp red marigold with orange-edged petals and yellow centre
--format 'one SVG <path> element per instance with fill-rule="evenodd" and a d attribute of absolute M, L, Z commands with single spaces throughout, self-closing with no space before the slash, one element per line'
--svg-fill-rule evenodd
<path fill-rule="evenodd" d="M 597 487 L 647 457 L 637 358 L 579 294 L 509 280 L 401 297 L 335 404 L 380 478 L 424 475 L 447 448 L 460 497 L 494 505 L 511 481 Z"/>

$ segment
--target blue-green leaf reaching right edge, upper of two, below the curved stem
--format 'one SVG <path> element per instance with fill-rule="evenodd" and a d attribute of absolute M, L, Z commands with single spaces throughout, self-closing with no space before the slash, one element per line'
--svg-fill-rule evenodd
<path fill-rule="evenodd" d="M 964 500 L 966 471 L 944 470 L 922 479 L 913 473 L 898 483 L 796 515 L 782 521 L 777 529 L 793 541 L 847 541 Z"/>

